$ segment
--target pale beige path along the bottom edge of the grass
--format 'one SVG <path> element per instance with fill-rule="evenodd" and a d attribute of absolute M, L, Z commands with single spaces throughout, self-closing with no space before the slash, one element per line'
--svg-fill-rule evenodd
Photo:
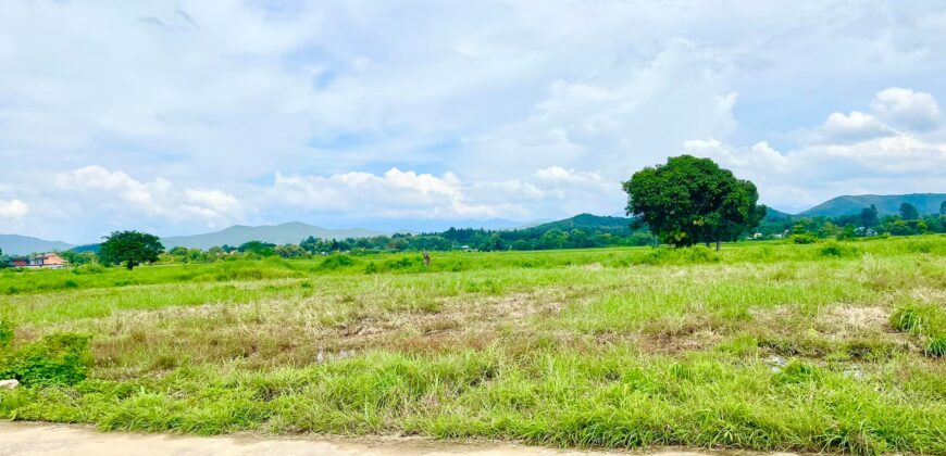
<path fill-rule="evenodd" d="M 296 456 L 576 456 L 618 453 L 564 452 L 514 444 L 453 444 L 415 439 L 384 439 L 365 442 L 318 438 L 269 438 L 258 435 L 190 436 L 167 434 L 101 433 L 95 429 L 65 425 L 0 421 L 0 456 L 7 455 L 270 455 Z M 662 456 L 700 456 L 712 453 L 665 451 Z M 626 453 L 625 453 L 626 455 Z"/>

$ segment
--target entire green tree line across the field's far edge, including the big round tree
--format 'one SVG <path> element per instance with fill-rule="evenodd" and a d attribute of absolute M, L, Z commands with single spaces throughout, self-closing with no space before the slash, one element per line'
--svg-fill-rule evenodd
<path fill-rule="evenodd" d="M 276 245 L 250 241 L 208 250 L 164 249 L 158 237 L 116 231 L 95 248 L 62 252 L 75 265 L 98 262 L 127 269 L 142 263 L 208 263 L 237 258 L 307 258 L 345 252 L 368 254 L 408 251 L 533 251 L 588 249 L 667 243 L 686 248 L 740 239 L 788 237 L 797 243 L 819 238 L 850 239 L 869 236 L 909 236 L 946 232 L 946 202 L 939 214 L 921 216 L 909 203 L 899 214 L 879 217 L 873 205 L 842 217 L 769 217 L 757 204 L 756 186 L 736 178 L 709 159 L 680 155 L 665 164 L 645 167 L 623 182 L 630 219 L 582 214 L 571 219 L 513 230 L 450 228 L 432 233 L 396 233 L 373 238 L 318 239 Z M 2 255 L 2 252 L 0 252 Z M 0 258 L 2 259 L 2 258 Z M 5 262 L 0 261 L 0 265 Z"/>

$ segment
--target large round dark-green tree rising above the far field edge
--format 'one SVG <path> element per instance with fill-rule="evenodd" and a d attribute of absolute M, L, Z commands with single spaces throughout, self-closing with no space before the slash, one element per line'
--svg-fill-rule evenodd
<path fill-rule="evenodd" d="M 719 250 L 720 241 L 735 240 L 765 216 L 756 186 L 709 159 L 670 157 L 635 173 L 624 191 L 627 214 L 675 246 L 715 242 Z"/>

